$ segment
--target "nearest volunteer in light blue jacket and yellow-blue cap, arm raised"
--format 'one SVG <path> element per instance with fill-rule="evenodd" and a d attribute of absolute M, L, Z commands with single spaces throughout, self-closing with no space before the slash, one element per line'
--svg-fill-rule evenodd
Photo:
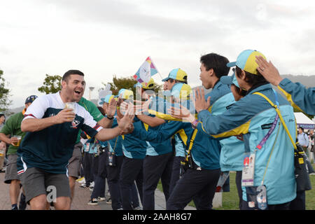
<path fill-rule="evenodd" d="M 241 88 L 248 91 L 246 97 L 235 103 L 228 111 L 214 116 L 206 110 L 209 101 L 205 102 L 202 97 L 196 97 L 196 110 L 199 112 L 197 129 L 214 138 L 244 134 L 245 146 L 251 153 L 255 152 L 253 186 L 266 186 L 269 209 L 288 209 L 289 202 L 296 196 L 294 152 L 293 144 L 280 121 L 276 123 L 274 131 L 262 148 L 256 148 L 276 118 L 276 111 L 269 102 L 260 95 L 254 94 L 255 92 L 265 94 L 274 104 L 276 103 L 272 86 L 257 71 L 256 55 L 265 57 L 258 51 L 244 50 L 237 57 L 237 62 L 228 64 L 228 66 L 237 66 L 237 82 Z M 277 97 L 281 115 L 290 135 L 295 139 L 293 108 L 279 94 Z M 243 195 L 243 199 L 247 201 L 246 190 Z M 251 204 L 249 206 L 245 204 L 243 208 L 251 209 Z"/>

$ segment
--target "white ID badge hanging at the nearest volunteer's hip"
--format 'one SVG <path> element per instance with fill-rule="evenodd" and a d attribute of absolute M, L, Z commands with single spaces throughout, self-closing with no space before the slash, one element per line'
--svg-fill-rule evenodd
<path fill-rule="evenodd" d="M 253 186 L 254 174 L 255 153 L 245 153 L 243 170 L 241 172 L 241 186 Z"/>

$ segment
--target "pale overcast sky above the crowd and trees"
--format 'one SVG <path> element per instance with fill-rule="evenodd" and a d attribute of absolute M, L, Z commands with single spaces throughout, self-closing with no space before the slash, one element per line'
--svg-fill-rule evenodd
<path fill-rule="evenodd" d="M 315 75 L 314 1 L 0 0 L 0 69 L 13 105 L 41 95 L 45 74 L 85 73 L 85 95 L 133 76 L 151 56 L 162 78 L 181 68 L 194 87 L 200 56 L 235 61 L 259 50 L 280 73 Z M 161 82 L 160 76 L 153 76 Z"/>

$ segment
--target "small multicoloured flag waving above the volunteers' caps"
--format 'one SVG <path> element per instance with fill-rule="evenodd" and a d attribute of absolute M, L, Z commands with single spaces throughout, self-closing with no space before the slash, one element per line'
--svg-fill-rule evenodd
<path fill-rule="evenodd" d="M 158 73 L 158 70 L 156 69 L 155 64 L 153 64 L 151 57 L 147 57 L 146 61 L 140 66 L 133 78 L 139 83 L 148 83 L 151 76 L 156 73 Z"/>

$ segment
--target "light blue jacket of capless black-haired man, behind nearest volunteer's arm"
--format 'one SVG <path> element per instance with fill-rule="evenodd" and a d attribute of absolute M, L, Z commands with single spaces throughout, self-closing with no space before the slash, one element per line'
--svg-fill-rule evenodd
<path fill-rule="evenodd" d="M 214 85 L 214 89 L 205 96 L 205 99 L 208 99 L 208 97 L 211 97 L 209 112 L 215 116 L 224 113 L 235 104 L 230 86 L 221 83 L 220 80 Z M 220 144 L 221 171 L 241 171 L 243 168 L 244 142 L 232 136 L 221 139 Z"/>

